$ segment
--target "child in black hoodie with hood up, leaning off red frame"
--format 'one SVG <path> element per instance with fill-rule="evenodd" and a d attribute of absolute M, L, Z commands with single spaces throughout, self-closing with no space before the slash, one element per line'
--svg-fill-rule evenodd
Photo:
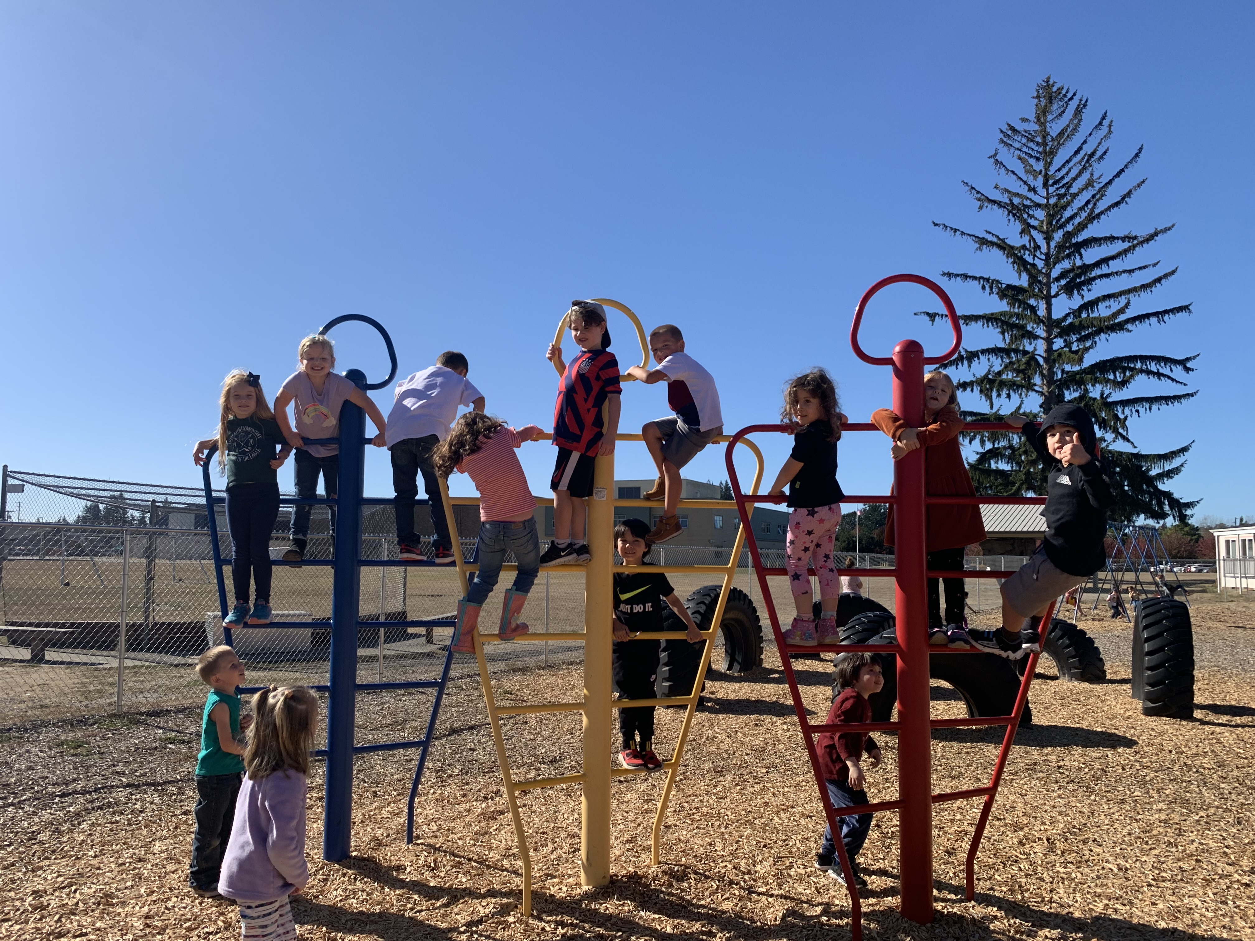
<path fill-rule="evenodd" d="M 1058 405 L 1040 424 L 1020 415 L 1019 425 L 1043 460 L 1054 463 L 1045 491 L 1045 538 L 1033 557 L 1003 582 L 1001 630 L 969 631 L 989 652 L 1018 660 L 1040 651 L 1039 625 L 1047 606 L 1107 562 L 1107 508 L 1116 498 L 1098 459 L 1098 439 L 1089 413 Z"/>

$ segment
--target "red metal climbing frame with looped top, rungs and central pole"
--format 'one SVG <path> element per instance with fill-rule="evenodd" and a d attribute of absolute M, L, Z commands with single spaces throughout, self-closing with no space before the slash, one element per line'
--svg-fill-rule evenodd
<path fill-rule="evenodd" d="M 922 285 L 932 291 L 945 305 L 950 326 L 954 330 L 954 345 L 943 356 L 925 356 L 924 348 L 915 340 L 902 340 L 894 348 L 892 356 L 868 356 L 858 345 L 858 325 L 862 322 L 863 310 L 872 296 L 884 287 L 892 284 L 910 282 Z M 872 365 L 885 365 L 894 368 L 894 412 L 901 415 L 909 425 L 919 428 L 924 424 L 924 366 L 944 363 L 959 351 L 963 341 L 963 331 L 959 326 L 959 317 L 955 314 L 954 304 L 941 287 L 920 275 L 892 275 L 877 281 L 858 301 L 855 311 L 853 326 L 850 330 L 850 344 L 855 354 Z M 784 679 L 788 681 L 789 695 L 793 698 L 793 709 L 797 713 L 798 723 L 802 726 L 802 740 L 806 744 L 807 754 L 811 758 L 811 769 L 814 772 L 814 783 L 818 785 L 820 799 L 823 802 L 823 812 L 827 814 L 828 826 L 836 836 L 833 842 L 841 859 L 841 869 L 846 877 L 846 888 L 850 891 L 850 908 L 852 916 L 853 941 L 862 937 L 862 915 L 858 902 L 858 892 L 853 885 L 853 872 L 850 868 L 850 859 L 840 838 L 837 817 L 855 813 L 877 813 L 881 811 L 897 811 L 900 814 L 900 880 L 901 880 L 901 912 L 907 918 L 927 923 L 932 921 L 932 804 L 945 800 L 963 800 L 965 798 L 984 798 L 980 809 L 980 818 L 968 849 L 966 863 L 966 890 L 968 900 L 975 895 L 975 861 L 976 851 L 980 848 L 980 838 L 989 822 L 989 812 L 993 809 L 994 798 L 998 795 L 998 785 L 1007 767 L 1007 758 L 1010 754 L 1012 743 L 1015 740 L 1015 730 L 1019 726 L 1020 716 L 1024 713 L 1024 704 L 1028 701 L 1029 684 L 1037 669 L 1039 654 L 1032 654 L 1024 670 L 1024 679 L 1020 683 L 1019 694 L 1015 698 L 1015 708 L 1010 715 L 983 716 L 978 719 L 932 719 L 929 710 L 929 656 L 931 654 L 974 654 L 974 650 L 951 650 L 949 647 L 930 647 L 927 642 L 927 578 L 943 577 L 949 572 L 930 572 L 926 565 L 925 548 L 925 511 L 927 503 L 1001 503 L 1025 504 L 1044 503 L 1043 497 L 926 497 L 924 493 L 924 449 L 910 452 L 894 463 L 894 496 L 891 497 L 846 497 L 847 503 L 892 503 L 895 506 L 895 567 L 894 568 L 847 568 L 842 575 L 860 576 L 886 576 L 892 575 L 896 581 L 896 622 L 897 644 L 842 644 L 823 645 L 817 647 L 786 647 L 784 637 L 781 634 L 779 617 L 772 600 L 771 588 L 767 585 L 768 576 L 782 576 L 784 568 L 764 568 L 762 556 L 758 552 L 758 541 L 754 538 L 754 529 L 749 524 L 753 503 L 783 503 L 784 497 L 747 496 L 740 489 L 737 478 L 737 468 L 733 465 L 733 452 L 737 442 L 747 434 L 758 432 L 783 433 L 786 425 L 749 425 L 732 437 L 727 449 L 728 479 L 732 483 L 732 493 L 737 501 L 737 511 L 740 514 L 740 523 L 745 529 L 749 553 L 754 562 L 754 571 L 758 575 L 758 585 L 763 593 L 763 603 L 772 624 L 772 634 L 776 636 L 776 646 L 781 652 L 781 665 L 784 670 Z M 842 425 L 842 432 L 873 432 L 872 424 Z M 965 430 L 1015 430 L 1013 425 L 996 423 L 968 424 Z M 813 571 L 813 570 L 812 570 Z M 966 578 L 1007 578 L 1012 572 L 975 571 L 965 572 Z M 1054 615 L 1054 603 L 1047 610 L 1042 619 L 1042 636 L 1049 629 L 1050 619 Z M 862 723 L 856 725 L 814 725 L 807 719 L 806 708 L 797 688 L 797 678 L 793 674 L 793 664 L 788 652 L 853 652 L 860 650 L 877 654 L 897 655 L 897 721 Z M 1003 736 L 1001 748 L 998 752 L 998 760 L 994 763 L 994 773 L 989 784 L 968 790 L 951 790 L 944 794 L 932 793 L 932 757 L 931 757 L 931 729 L 974 726 L 974 725 L 1005 725 L 1007 733 Z M 818 752 L 814 747 L 814 736 L 825 731 L 848 731 L 857 729 L 862 731 L 878 731 L 892 729 L 897 731 L 899 769 L 896 800 L 881 800 L 862 807 L 836 809 L 828 799 L 827 788 L 820 772 Z"/>

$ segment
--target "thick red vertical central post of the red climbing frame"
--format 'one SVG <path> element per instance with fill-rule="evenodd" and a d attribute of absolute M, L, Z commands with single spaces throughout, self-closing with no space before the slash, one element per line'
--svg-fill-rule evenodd
<path fill-rule="evenodd" d="M 894 412 L 910 428 L 924 425 L 924 348 L 902 340 L 894 348 Z M 897 794 L 902 915 L 932 921 L 932 749 L 929 729 L 929 614 L 925 548 L 924 449 L 894 463 L 895 558 L 897 570 Z"/>

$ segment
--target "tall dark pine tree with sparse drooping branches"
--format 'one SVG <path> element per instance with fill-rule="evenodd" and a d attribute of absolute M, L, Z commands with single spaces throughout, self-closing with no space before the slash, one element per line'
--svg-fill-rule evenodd
<path fill-rule="evenodd" d="M 1096 350 L 1136 327 L 1162 324 L 1190 312 L 1190 304 L 1157 310 L 1133 310 L 1135 301 L 1162 286 L 1177 268 L 1148 275 L 1158 261 L 1135 262 L 1132 256 L 1173 226 L 1150 232 L 1108 232 L 1108 217 L 1132 199 L 1146 179 L 1123 182 L 1142 156 L 1142 148 L 1114 173 L 1104 177 L 1113 124 L 1103 114 L 1088 125 L 1089 100 L 1050 77 L 1038 83 L 1032 117 L 1008 123 L 998 134 L 990 157 L 998 176 L 986 193 L 964 181 L 978 212 L 990 210 L 1014 228 L 1010 235 L 983 233 L 934 222 L 950 235 L 970 241 L 978 252 L 1001 256 L 1014 281 L 990 275 L 946 271 L 945 277 L 974 284 L 995 297 L 1001 309 L 960 315 L 965 326 L 993 329 L 1000 343 L 959 354 L 948 365 L 968 368 L 960 391 L 974 391 L 985 412 L 965 412 L 969 420 L 1001 420 L 1013 412 L 1045 414 L 1060 403 L 1074 403 L 1093 415 L 1103 455 L 1113 470 L 1118 502 L 1116 519 L 1185 522 L 1199 501 L 1182 501 L 1165 484 L 1185 467 L 1194 442 L 1161 454 L 1136 450 L 1128 423 L 1196 395 L 1127 395 L 1138 380 L 1183 386 L 1181 374 L 1194 371 L 1194 356 L 1124 354 L 1096 356 Z M 927 312 L 932 320 L 940 315 Z M 978 370 L 984 371 L 978 371 Z M 1013 408 L 1004 410 L 1004 405 Z M 981 493 L 1044 493 L 1048 469 L 1018 435 L 990 434 L 971 462 L 971 477 Z M 1127 445 L 1121 449 L 1118 445 Z"/>

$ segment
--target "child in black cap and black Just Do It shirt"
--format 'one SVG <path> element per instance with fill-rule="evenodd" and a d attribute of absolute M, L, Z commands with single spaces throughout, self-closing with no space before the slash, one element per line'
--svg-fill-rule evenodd
<path fill-rule="evenodd" d="M 615 527 L 615 548 L 626 566 L 645 565 L 651 546 L 645 542 L 649 523 L 624 519 Z M 688 629 L 692 644 L 702 641 L 702 632 L 693 624 L 684 602 L 675 595 L 664 572 L 615 572 L 614 617 L 614 679 L 620 699 L 654 699 L 658 674 L 658 640 L 631 640 L 633 634 L 663 629 L 663 602 L 679 615 Z M 619 710 L 624 768 L 661 770 L 663 763 L 654 754 L 654 706 L 630 706 Z"/>

